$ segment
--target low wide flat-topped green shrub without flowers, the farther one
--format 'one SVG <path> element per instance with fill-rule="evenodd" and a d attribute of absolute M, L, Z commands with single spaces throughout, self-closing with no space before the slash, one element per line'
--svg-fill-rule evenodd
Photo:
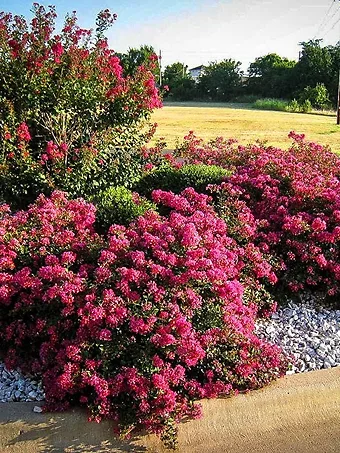
<path fill-rule="evenodd" d="M 147 173 L 134 187 L 138 193 L 150 197 L 155 189 L 180 193 L 187 187 L 193 187 L 197 192 L 205 192 L 207 185 L 219 184 L 230 172 L 216 165 L 191 164 L 181 168 L 163 166 Z"/>

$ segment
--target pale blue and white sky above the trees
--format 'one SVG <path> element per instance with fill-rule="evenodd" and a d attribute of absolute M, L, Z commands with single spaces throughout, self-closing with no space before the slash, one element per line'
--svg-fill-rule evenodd
<path fill-rule="evenodd" d="M 143 44 L 162 54 L 162 67 L 189 68 L 232 58 L 246 72 L 255 58 L 275 52 L 297 60 L 299 42 L 340 40 L 340 0 L 51 0 L 60 19 L 77 11 L 83 28 L 94 27 L 101 9 L 118 19 L 107 33 L 117 52 Z M 32 1 L 0 0 L 0 11 L 32 17 Z M 58 19 L 58 20 L 59 20 Z"/>

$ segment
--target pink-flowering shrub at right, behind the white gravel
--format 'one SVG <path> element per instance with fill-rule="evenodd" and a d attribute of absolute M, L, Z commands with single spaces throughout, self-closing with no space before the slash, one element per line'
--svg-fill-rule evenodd
<path fill-rule="evenodd" d="M 283 151 L 222 138 L 204 144 L 189 133 L 176 153 L 187 163 L 233 170 L 212 189 L 220 196 L 218 210 L 237 227 L 242 206 L 250 209 L 254 242 L 277 260 L 281 290 L 320 289 L 333 296 L 340 289 L 340 160 L 304 135 L 289 136 L 294 143 Z"/>

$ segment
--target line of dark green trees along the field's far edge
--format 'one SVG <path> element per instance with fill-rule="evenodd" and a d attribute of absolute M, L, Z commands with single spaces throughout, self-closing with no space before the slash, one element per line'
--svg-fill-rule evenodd
<path fill-rule="evenodd" d="M 299 61 L 276 53 L 253 61 L 248 73 L 241 62 L 233 59 L 210 62 L 194 80 L 188 66 L 181 62 L 168 65 L 162 72 L 162 86 L 168 86 L 165 97 L 173 100 L 233 101 L 251 98 L 279 98 L 309 102 L 314 108 L 335 107 L 337 102 L 340 44 L 322 46 L 322 40 L 300 43 Z M 143 64 L 152 54 L 151 46 L 130 49 L 121 54 L 126 74 Z M 157 67 L 159 80 L 159 67 Z"/>

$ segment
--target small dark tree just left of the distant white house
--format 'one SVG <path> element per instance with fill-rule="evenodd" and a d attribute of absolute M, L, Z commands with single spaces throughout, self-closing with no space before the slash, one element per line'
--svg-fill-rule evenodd
<path fill-rule="evenodd" d="M 184 63 L 176 62 L 166 66 L 163 83 L 169 88 L 168 97 L 189 101 L 196 96 L 196 83 L 190 76 L 188 66 Z"/>

